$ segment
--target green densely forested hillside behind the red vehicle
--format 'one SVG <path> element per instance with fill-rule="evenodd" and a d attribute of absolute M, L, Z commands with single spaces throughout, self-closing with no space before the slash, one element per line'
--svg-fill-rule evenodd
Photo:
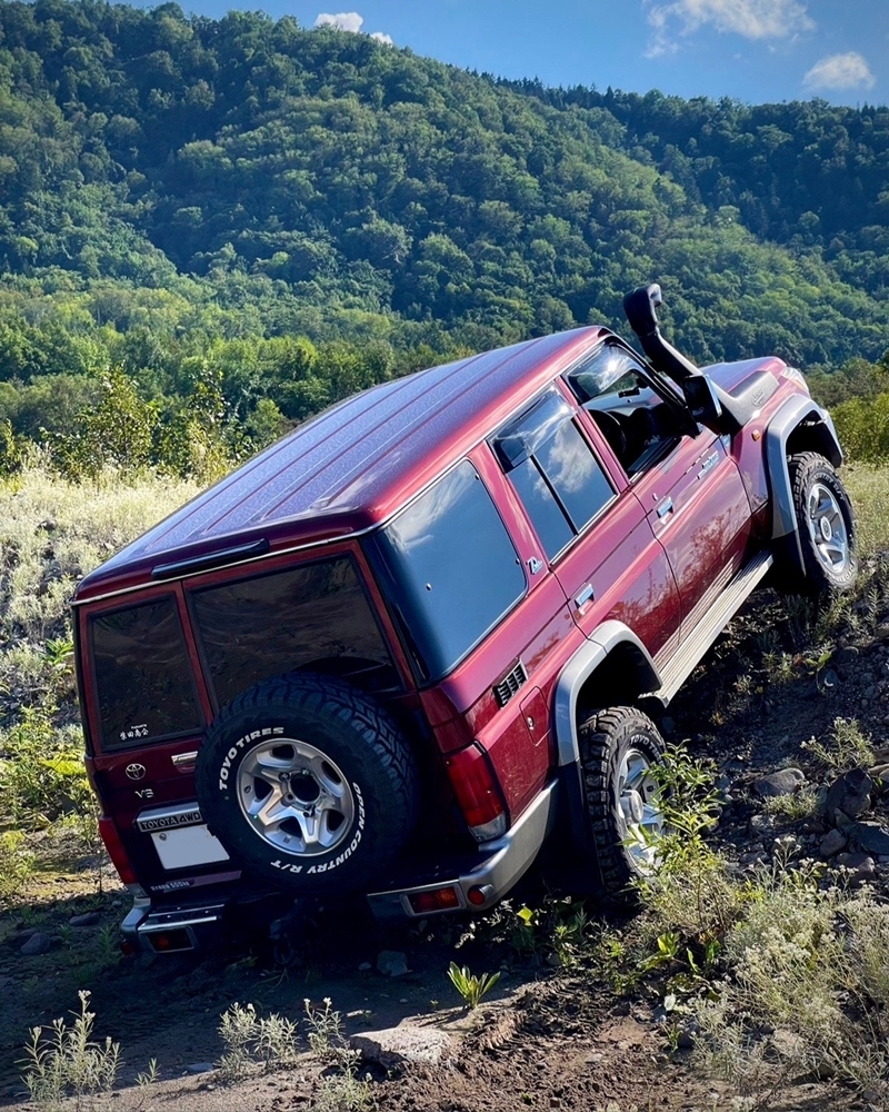
<path fill-rule="evenodd" d="M 669 105 L 691 128 L 716 112 Z M 879 267 L 759 240 L 781 238 L 776 221 L 752 219 L 733 181 L 727 201 L 678 156 L 655 165 L 630 107 L 529 96 L 290 17 L 2 0 L 0 260 L 16 289 L 112 279 L 218 299 L 241 329 L 370 328 L 438 349 L 618 325 L 622 294 L 657 276 L 699 359 L 883 351 Z M 781 157 L 768 126 L 720 119 L 750 166 Z M 881 136 L 858 137 L 869 220 L 889 187 Z"/>

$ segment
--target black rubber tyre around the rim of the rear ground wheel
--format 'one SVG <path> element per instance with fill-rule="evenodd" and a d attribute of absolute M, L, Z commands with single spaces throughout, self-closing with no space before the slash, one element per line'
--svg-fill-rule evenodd
<path fill-rule="evenodd" d="M 598 711 L 578 729 L 580 763 L 590 834 L 599 862 L 605 895 L 612 902 L 636 902 L 630 886 L 653 866 L 640 861 L 627 845 L 630 828 L 621 807 L 619 784 L 628 756 L 639 754 L 649 766 L 663 759 L 665 744 L 657 726 L 636 707 L 613 706 Z M 655 800 L 657 786 L 648 778 L 646 802 Z"/>

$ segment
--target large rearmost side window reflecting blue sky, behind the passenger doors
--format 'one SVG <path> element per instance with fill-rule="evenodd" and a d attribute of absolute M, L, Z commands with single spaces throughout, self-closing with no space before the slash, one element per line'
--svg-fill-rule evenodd
<path fill-rule="evenodd" d="M 369 542 L 404 641 L 424 679 L 439 679 L 525 594 L 525 570 L 469 460 Z"/>

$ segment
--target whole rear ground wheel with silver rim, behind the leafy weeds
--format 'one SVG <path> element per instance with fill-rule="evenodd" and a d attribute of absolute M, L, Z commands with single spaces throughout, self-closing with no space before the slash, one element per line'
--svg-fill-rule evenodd
<path fill-rule="evenodd" d="M 648 715 L 616 706 L 588 718 L 578 739 L 602 885 L 606 895 L 626 903 L 631 882 L 657 867 L 665 824 L 652 770 L 663 759 L 663 738 Z"/>

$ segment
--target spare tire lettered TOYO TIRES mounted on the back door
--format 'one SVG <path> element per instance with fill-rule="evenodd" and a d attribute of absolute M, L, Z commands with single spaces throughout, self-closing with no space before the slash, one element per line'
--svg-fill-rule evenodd
<path fill-rule="evenodd" d="M 416 761 L 391 717 L 313 673 L 264 681 L 219 712 L 197 791 L 237 865 L 302 894 L 367 891 L 418 808 Z"/>

